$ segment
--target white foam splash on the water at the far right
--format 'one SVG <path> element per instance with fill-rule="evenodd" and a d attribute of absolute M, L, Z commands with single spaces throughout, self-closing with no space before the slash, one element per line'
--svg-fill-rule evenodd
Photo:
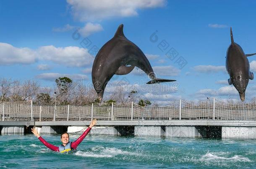
<path fill-rule="evenodd" d="M 232 157 L 224 157 L 221 155 L 225 155 L 228 153 L 225 152 L 214 152 L 214 153 L 206 153 L 204 156 L 202 156 L 202 161 L 242 161 L 242 162 L 252 162 L 250 159 L 244 156 L 235 155 Z"/>

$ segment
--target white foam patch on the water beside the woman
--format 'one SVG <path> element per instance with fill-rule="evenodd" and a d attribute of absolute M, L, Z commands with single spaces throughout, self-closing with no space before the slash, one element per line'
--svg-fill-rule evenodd
<path fill-rule="evenodd" d="M 90 151 L 77 151 L 75 155 L 77 156 L 85 156 L 85 157 L 96 157 L 96 158 L 110 158 L 113 156 L 121 155 L 121 154 L 131 154 L 128 151 L 123 151 L 117 148 L 103 147 L 103 146 L 94 146 Z"/>

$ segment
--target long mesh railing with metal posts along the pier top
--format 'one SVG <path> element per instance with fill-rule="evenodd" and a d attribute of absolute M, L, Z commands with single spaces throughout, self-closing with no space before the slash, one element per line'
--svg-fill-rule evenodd
<path fill-rule="evenodd" d="M 87 106 L 33 105 L 32 101 L 0 102 L 0 121 L 114 120 L 256 120 L 256 102 L 228 103 L 209 99 L 179 100 L 168 106 L 142 107 L 136 103 L 92 103 Z"/>

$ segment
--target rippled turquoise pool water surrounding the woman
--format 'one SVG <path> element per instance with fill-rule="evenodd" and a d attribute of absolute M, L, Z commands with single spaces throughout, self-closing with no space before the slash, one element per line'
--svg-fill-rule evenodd
<path fill-rule="evenodd" d="M 60 144 L 60 135 L 42 135 Z M 78 134 L 71 134 L 75 140 Z M 71 154 L 32 134 L 0 135 L 0 168 L 255 168 L 256 141 L 86 136 Z"/>

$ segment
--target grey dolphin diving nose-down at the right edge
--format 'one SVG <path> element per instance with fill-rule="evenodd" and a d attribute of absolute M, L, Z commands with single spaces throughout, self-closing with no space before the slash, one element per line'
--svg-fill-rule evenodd
<path fill-rule="evenodd" d="M 253 73 L 250 72 L 250 65 L 247 56 L 255 55 L 245 54 L 240 45 L 234 42 L 232 28 L 230 28 L 231 45 L 227 49 L 226 69 L 230 78 L 229 85 L 234 85 L 238 90 L 241 101 L 245 100 L 246 87 L 249 79 L 253 80 Z"/>

